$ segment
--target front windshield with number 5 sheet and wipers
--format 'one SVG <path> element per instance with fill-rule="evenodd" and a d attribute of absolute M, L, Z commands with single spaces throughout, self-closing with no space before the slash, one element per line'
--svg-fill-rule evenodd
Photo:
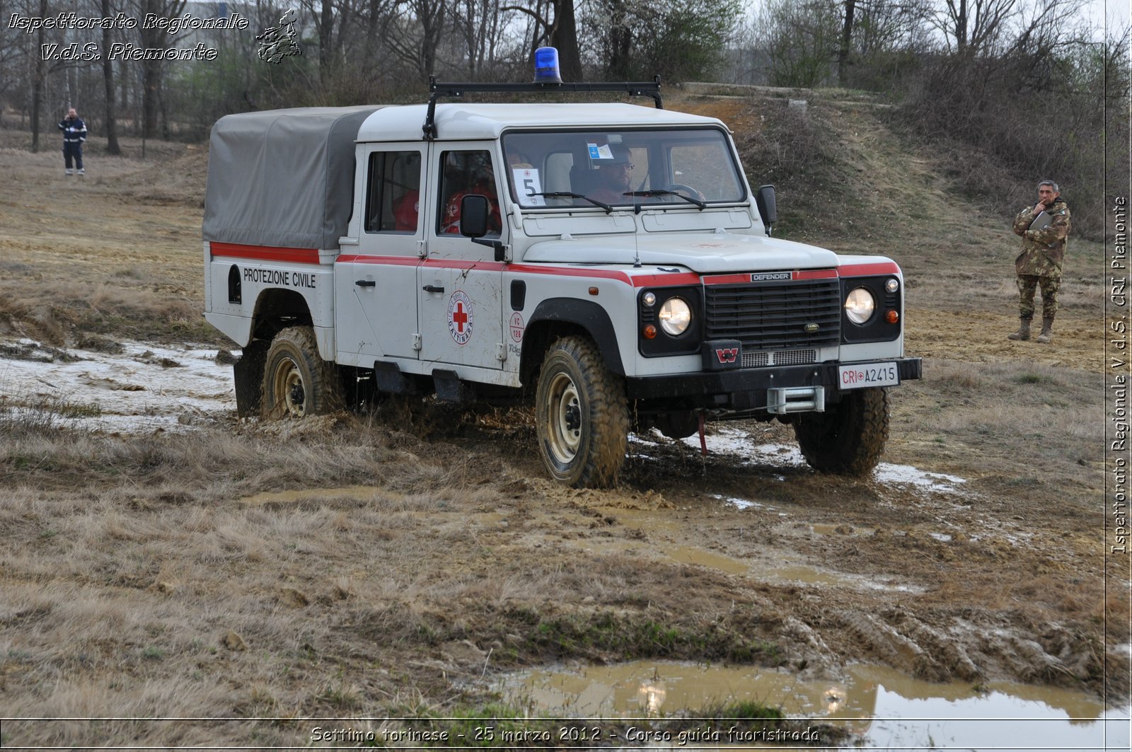
<path fill-rule="evenodd" d="M 512 198 L 524 207 L 684 205 L 746 198 L 719 128 L 520 131 L 503 137 Z"/>

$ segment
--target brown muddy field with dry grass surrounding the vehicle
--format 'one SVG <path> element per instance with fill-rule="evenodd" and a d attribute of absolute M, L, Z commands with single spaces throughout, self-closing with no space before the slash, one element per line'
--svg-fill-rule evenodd
<path fill-rule="evenodd" d="M 79 182 L 23 137 L 0 134 L 0 408 L 51 393 L 3 382 L 20 341 L 230 347 L 199 319 L 204 148 L 151 143 L 143 162 L 92 140 Z M 903 172 L 915 200 L 945 189 Z M 1127 563 L 1104 571 L 1103 248 L 1073 246 L 1054 343 L 1009 342 L 1009 227 L 974 204 L 933 221 L 975 239 L 909 250 L 904 221 L 872 241 L 906 270 L 925 378 L 892 391 L 869 478 L 816 475 L 777 424 L 710 427 L 706 456 L 636 437 L 611 490 L 548 481 L 524 411 L 386 405 L 292 431 L 195 408 L 190 430 L 145 433 L 147 458 L 129 430 L 14 431 L 2 715 L 439 711 L 475 706 L 496 672 L 640 656 L 800 677 L 865 661 L 1125 702 Z M 72 622 L 87 601 L 122 612 L 94 619 L 94 642 Z M 174 676 L 188 684 L 155 689 Z M 203 738 L 181 733 L 147 738 Z"/>

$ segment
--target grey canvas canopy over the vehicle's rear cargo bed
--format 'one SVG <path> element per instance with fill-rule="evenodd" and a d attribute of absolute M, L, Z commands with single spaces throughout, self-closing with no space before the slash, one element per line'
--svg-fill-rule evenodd
<path fill-rule="evenodd" d="M 354 139 L 379 106 L 230 114 L 213 126 L 204 239 L 332 249 L 353 203 Z"/>

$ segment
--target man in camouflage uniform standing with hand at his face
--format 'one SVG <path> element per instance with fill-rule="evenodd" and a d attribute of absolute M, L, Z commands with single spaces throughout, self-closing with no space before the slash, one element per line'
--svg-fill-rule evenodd
<path fill-rule="evenodd" d="M 1045 212 L 1049 223 L 1037 221 Z M 1057 183 L 1043 180 L 1038 183 L 1038 203 L 1023 208 L 1014 217 L 1014 233 L 1022 236 L 1022 253 L 1014 259 L 1020 294 L 1017 332 L 1010 340 L 1029 340 L 1030 321 L 1034 318 L 1034 293 L 1041 288 L 1041 334 L 1038 342 L 1054 337 L 1054 315 L 1057 313 L 1057 288 L 1061 287 L 1061 267 L 1065 259 L 1065 238 L 1069 236 L 1069 206 L 1061 199 Z M 1045 217 L 1043 217 L 1044 220 Z"/>

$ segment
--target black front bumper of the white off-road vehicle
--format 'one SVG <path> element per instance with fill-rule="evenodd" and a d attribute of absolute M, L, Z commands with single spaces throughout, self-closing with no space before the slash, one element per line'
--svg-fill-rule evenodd
<path fill-rule="evenodd" d="M 901 382 L 921 378 L 920 358 L 884 358 L 875 362 L 895 362 Z M 625 386 L 628 398 L 637 401 L 638 409 L 765 410 L 767 392 L 771 390 L 822 387 L 825 402 L 838 402 L 842 394 L 838 383 L 838 366 L 842 365 L 847 364 L 820 362 L 806 366 L 636 376 L 627 378 Z"/>

